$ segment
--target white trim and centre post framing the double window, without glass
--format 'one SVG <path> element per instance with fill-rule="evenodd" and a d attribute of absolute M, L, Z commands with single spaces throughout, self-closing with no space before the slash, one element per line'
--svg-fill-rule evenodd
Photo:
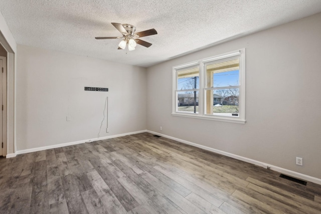
<path fill-rule="evenodd" d="M 209 62 L 214 62 L 217 60 L 234 57 L 234 56 L 240 56 L 240 76 L 239 76 L 239 82 L 240 82 L 240 105 L 239 105 L 239 117 L 227 117 L 227 116 L 218 116 L 218 115 L 206 115 L 204 114 L 205 111 L 205 88 L 204 86 L 204 72 L 205 72 L 205 64 Z M 198 114 L 194 113 L 181 113 L 177 111 L 177 78 L 176 78 L 176 72 L 180 69 L 185 69 L 188 67 L 194 67 L 199 65 L 200 67 L 200 76 L 199 76 L 199 112 Z M 173 116 L 180 116 L 180 117 L 188 117 L 188 118 L 197 118 L 197 119 L 204 119 L 204 120 L 215 120 L 215 121 L 221 121 L 221 122 L 231 122 L 231 123 L 239 123 L 239 124 L 245 124 L 245 48 L 239 49 L 236 51 L 228 52 L 225 54 L 220 54 L 214 57 L 209 57 L 205 59 L 201 59 L 198 61 L 194 61 L 191 63 L 179 65 L 173 67 L 173 84 L 172 84 L 172 115 Z"/>

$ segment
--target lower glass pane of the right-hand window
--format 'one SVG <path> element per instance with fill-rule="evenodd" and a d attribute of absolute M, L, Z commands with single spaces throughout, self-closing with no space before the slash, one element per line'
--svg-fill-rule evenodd
<path fill-rule="evenodd" d="M 206 114 L 239 116 L 239 88 L 205 90 Z"/>

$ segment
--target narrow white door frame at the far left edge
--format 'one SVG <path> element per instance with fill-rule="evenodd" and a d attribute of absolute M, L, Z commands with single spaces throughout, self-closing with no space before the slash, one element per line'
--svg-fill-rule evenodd
<path fill-rule="evenodd" d="M 2 71 L 0 71 L 3 76 L 2 76 L 2 88 L 3 88 L 3 105 L 4 105 L 4 110 L 3 110 L 3 121 L 2 121 L 2 127 L 3 127 L 3 134 L 2 134 L 2 141 L 0 143 L 4 143 L 4 147 L 1 148 L 0 145 L 0 149 L 2 149 L 2 155 L 4 157 L 6 157 L 6 155 L 8 154 L 8 146 L 7 146 L 7 57 L 2 57 L 0 56 L 0 59 L 2 59 L 3 61 L 3 65 L 2 67 L 4 68 L 4 72 L 2 73 Z M 1 108 L 1 106 L 0 106 Z"/>

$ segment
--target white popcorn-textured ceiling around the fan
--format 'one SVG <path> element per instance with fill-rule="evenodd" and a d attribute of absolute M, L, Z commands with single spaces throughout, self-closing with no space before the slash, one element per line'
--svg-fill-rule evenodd
<path fill-rule="evenodd" d="M 220 41 L 321 12 L 321 0 L 1 0 L 18 44 L 148 67 Z M 111 22 L 131 24 L 149 48 L 117 50 Z"/>

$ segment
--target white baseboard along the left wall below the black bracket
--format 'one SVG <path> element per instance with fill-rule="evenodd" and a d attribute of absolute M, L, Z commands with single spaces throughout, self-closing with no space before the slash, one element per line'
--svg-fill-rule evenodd
<path fill-rule="evenodd" d="M 143 132 L 146 132 L 146 130 L 110 135 L 110 136 L 99 137 L 99 138 L 92 138 L 92 139 L 87 139 L 87 140 L 79 140 L 79 141 L 74 141 L 74 142 L 69 142 L 69 143 L 61 143 L 61 144 L 55 144 L 55 145 L 43 146 L 43 147 L 37 147 L 37 148 L 31 148 L 31 149 L 18 150 L 18 151 L 16 151 L 16 153 L 7 154 L 6 157 L 7 158 L 16 157 L 17 154 L 25 154 L 25 153 L 35 152 L 35 151 L 42 151 L 42 150 L 46 150 L 46 149 L 71 146 L 71 145 L 81 144 L 81 143 L 85 143 L 85 142 L 94 142 L 94 141 L 98 141 L 98 140 L 105 140 L 105 139 L 109 139 L 109 138 L 122 137 L 122 136 L 126 136 L 126 135 L 131 135 L 131 134 L 139 134 L 139 133 L 143 133 Z"/>

